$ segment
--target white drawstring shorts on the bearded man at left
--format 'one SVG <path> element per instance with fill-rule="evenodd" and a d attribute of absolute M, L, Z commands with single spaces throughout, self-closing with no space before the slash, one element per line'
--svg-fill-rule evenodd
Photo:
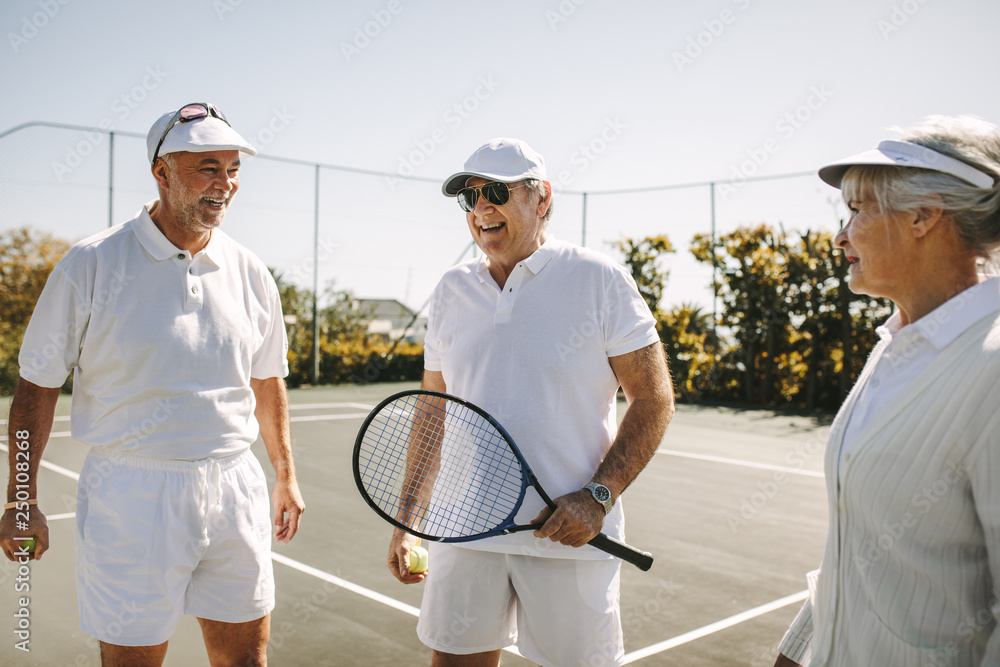
<path fill-rule="evenodd" d="M 91 449 L 76 543 L 80 629 L 103 642 L 151 646 L 181 614 L 244 623 L 274 608 L 267 483 L 249 450 L 166 461 Z"/>

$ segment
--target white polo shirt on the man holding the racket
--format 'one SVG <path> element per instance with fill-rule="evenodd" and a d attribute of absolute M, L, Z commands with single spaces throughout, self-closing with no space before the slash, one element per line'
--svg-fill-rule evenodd
<path fill-rule="evenodd" d="M 424 367 L 448 393 L 491 414 L 514 439 L 552 498 L 593 477 L 617 432 L 618 379 L 609 357 L 658 343 L 656 322 L 623 267 L 549 238 L 515 267 L 501 291 L 485 260 L 450 269 L 431 301 Z M 624 538 L 615 503 L 604 532 Z M 516 517 L 545 504 L 528 490 Z M 464 542 L 470 549 L 558 558 L 609 557 L 540 540 L 530 531 Z"/>

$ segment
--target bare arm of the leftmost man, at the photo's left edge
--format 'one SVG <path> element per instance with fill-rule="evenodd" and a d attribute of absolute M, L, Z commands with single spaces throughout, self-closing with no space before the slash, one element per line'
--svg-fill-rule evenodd
<path fill-rule="evenodd" d="M 9 478 L 5 503 L 38 498 L 38 468 L 42 453 L 52 433 L 52 419 L 59 399 L 59 387 L 40 387 L 24 378 L 18 380 L 7 419 L 7 454 Z M 27 442 L 27 445 L 21 443 Z M 41 558 L 49 548 L 49 528 L 37 505 L 27 509 L 27 529 L 17 527 L 23 521 L 22 507 L 6 510 L 0 518 L 0 548 L 10 560 L 21 542 L 15 537 L 35 538 L 35 555 Z M 20 517 L 18 515 L 21 515 Z"/>

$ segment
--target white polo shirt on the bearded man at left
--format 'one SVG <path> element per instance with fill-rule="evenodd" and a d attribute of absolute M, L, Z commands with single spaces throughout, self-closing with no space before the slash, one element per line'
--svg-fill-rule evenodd
<path fill-rule="evenodd" d="M 192 256 L 143 207 L 77 243 L 52 271 L 19 357 L 58 387 L 73 371 L 73 437 L 138 456 L 224 457 L 257 438 L 250 378 L 285 377 L 267 267 L 225 232 Z"/>

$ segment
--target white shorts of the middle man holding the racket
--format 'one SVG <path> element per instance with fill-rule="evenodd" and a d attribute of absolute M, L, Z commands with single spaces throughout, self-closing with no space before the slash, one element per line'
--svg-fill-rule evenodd
<path fill-rule="evenodd" d="M 543 667 L 621 663 L 618 559 L 570 560 L 428 545 L 417 636 L 467 655 L 517 644 Z"/>

